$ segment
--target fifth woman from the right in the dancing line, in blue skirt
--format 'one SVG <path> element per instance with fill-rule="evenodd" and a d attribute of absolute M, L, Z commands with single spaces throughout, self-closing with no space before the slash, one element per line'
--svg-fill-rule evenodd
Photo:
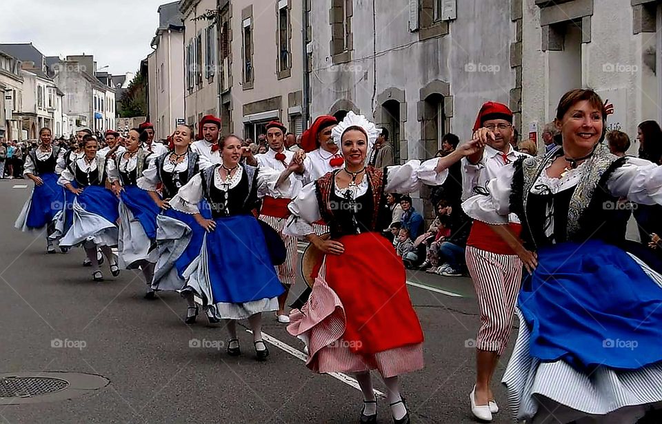
<path fill-rule="evenodd" d="M 141 269 L 148 285 L 145 299 L 152 300 L 155 299 L 152 276 L 158 258 L 153 242 L 157 238 L 157 215 L 161 208 L 148 192 L 137 186 L 150 157 L 141 147 L 140 137 L 137 128 L 128 132 L 126 151 L 114 161 L 108 161 L 108 179 L 120 199 L 119 265 L 124 270 Z"/>

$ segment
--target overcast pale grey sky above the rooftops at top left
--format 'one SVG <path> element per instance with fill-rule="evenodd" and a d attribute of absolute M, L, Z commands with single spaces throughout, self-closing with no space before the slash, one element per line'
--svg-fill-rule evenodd
<path fill-rule="evenodd" d="M 136 72 L 152 51 L 168 0 L 0 0 L 0 43 L 30 43 L 46 56 L 94 54 L 112 74 Z"/>

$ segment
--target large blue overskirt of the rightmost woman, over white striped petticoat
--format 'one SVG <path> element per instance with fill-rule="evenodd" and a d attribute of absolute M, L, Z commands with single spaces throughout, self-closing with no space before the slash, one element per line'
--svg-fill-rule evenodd
<path fill-rule="evenodd" d="M 662 361 L 662 287 L 620 248 L 592 240 L 538 252 L 519 308 L 530 354 L 577 370 L 637 370 Z"/>

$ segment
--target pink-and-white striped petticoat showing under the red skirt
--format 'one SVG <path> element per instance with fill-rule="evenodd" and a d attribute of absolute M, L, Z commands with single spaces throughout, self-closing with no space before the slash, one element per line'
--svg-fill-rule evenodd
<path fill-rule="evenodd" d="M 310 308 L 310 305 L 314 307 Z M 358 373 L 378 370 L 388 378 L 423 368 L 423 344 L 406 345 L 375 354 L 352 352 L 343 339 L 345 310 L 323 279 L 314 283 L 310 300 L 301 311 L 290 312 L 288 332 L 308 345 L 306 365 L 314 372 Z"/>

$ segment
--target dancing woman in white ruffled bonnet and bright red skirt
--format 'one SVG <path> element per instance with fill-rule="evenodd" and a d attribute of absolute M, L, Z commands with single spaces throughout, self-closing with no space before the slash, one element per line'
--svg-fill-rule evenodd
<path fill-rule="evenodd" d="M 386 192 L 439 185 L 448 175 L 446 168 L 475 148 L 465 143 L 444 158 L 366 167 L 378 135 L 373 123 L 349 112 L 333 130 L 345 167 L 305 185 L 289 205 L 288 234 L 305 237 L 325 254 L 326 276 L 314 282 L 301 311 L 292 310 L 288 331 L 307 341 L 311 370 L 356 375 L 364 396 L 361 423 L 377 422 L 370 376 L 375 369 L 388 389 L 394 422 L 409 423 L 399 375 L 423 367 L 423 331 L 405 285 L 405 267 L 379 234 L 391 216 L 379 211 Z M 330 228 L 329 240 L 311 225 L 322 218 Z"/>

